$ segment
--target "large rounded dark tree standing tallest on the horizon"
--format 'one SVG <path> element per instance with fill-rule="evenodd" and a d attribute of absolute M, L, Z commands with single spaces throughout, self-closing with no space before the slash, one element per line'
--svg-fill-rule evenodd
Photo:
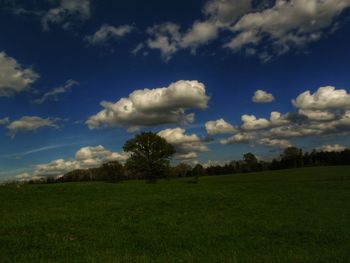
<path fill-rule="evenodd" d="M 150 182 L 165 175 L 169 159 L 175 153 L 174 146 L 153 132 L 136 135 L 124 144 L 123 149 L 131 154 L 126 163 L 127 169 Z"/>

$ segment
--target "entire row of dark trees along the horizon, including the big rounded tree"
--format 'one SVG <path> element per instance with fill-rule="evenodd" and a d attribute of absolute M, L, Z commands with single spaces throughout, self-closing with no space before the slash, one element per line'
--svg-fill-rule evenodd
<path fill-rule="evenodd" d="M 56 183 L 76 181 L 120 182 L 122 180 L 157 178 L 193 177 L 194 183 L 203 175 L 223 175 L 234 173 L 259 172 L 310 166 L 350 165 L 350 149 L 341 152 L 316 151 L 303 153 L 295 147 L 286 148 L 283 153 L 271 162 L 259 161 L 252 153 L 246 153 L 243 160 L 231 161 L 225 165 L 212 165 L 204 168 L 197 164 L 194 167 L 187 163 L 169 165 L 169 158 L 174 150 L 163 139 L 159 140 L 152 133 L 141 133 L 126 143 L 125 150 L 133 149 L 131 157 L 122 165 L 117 161 L 104 163 L 101 167 L 79 169 L 61 177 L 46 177 L 46 180 L 29 183 Z M 165 147 L 165 149 L 163 149 Z M 148 163 L 149 161 L 149 163 Z M 192 181 L 191 181 L 192 182 Z"/>

